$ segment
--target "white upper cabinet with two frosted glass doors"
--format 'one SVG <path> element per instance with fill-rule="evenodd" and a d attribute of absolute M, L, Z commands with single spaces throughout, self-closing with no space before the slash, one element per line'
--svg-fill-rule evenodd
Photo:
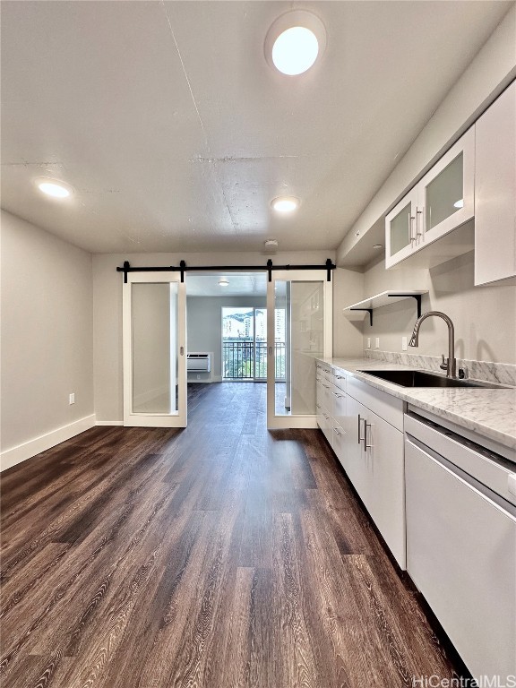
<path fill-rule="evenodd" d="M 469 129 L 385 218 L 385 267 L 427 249 L 428 267 L 473 248 L 472 232 L 449 235 L 474 215 L 475 131 Z"/>

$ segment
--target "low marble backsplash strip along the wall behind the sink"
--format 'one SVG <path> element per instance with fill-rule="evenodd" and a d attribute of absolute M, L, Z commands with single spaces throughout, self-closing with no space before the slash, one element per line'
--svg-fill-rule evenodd
<path fill-rule="evenodd" d="M 385 361 L 386 363 L 399 363 L 402 366 L 413 366 L 424 370 L 442 372 L 441 357 L 417 356 L 416 354 L 399 353 L 397 351 L 375 351 L 366 349 L 366 358 Z M 457 369 L 467 368 L 469 377 L 476 380 L 486 380 L 491 383 L 510 384 L 516 386 L 516 366 L 510 363 L 491 363 L 489 361 L 472 361 L 465 358 L 457 358 Z"/>

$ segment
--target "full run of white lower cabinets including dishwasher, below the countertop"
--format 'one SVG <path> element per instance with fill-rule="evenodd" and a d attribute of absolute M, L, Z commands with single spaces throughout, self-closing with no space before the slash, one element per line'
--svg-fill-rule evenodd
<path fill-rule="evenodd" d="M 460 428 L 450 434 L 438 419 L 413 409 L 404 415 L 404 402 L 340 369 L 322 371 L 317 404 L 350 482 L 471 674 L 509 685 L 516 676 L 511 461 L 462 442 Z"/>

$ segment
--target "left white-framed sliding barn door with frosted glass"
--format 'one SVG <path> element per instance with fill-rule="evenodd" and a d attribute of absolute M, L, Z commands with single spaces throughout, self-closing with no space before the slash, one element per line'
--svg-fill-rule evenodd
<path fill-rule="evenodd" d="M 186 292 L 179 272 L 129 272 L 123 291 L 124 425 L 186 426 Z"/>

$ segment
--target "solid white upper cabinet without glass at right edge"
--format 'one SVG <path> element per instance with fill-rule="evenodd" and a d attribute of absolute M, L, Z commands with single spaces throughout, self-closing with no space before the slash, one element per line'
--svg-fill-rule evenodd
<path fill-rule="evenodd" d="M 475 284 L 516 276 L 516 82 L 477 120 Z"/>

